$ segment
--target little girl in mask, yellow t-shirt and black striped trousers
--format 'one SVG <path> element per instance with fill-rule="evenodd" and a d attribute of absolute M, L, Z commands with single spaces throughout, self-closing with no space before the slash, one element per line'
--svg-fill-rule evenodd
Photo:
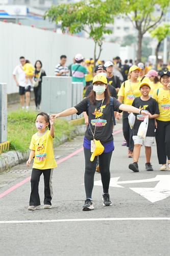
<path fill-rule="evenodd" d="M 41 112 L 36 117 L 35 125 L 38 132 L 32 136 L 31 152 L 27 161 L 27 166 L 30 166 L 31 160 L 34 158 L 28 210 L 36 210 L 40 207 L 38 184 L 42 173 L 44 176 L 44 209 L 50 209 L 52 208 L 51 200 L 53 197 L 53 168 L 57 167 L 53 150 L 54 117 L 50 118 L 48 114 Z"/>

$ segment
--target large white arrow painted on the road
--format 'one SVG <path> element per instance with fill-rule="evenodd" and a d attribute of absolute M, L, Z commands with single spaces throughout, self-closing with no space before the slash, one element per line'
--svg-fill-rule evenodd
<path fill-rule="evenodd" d="M 119 184 L 133 184 L 159 181 L 155 187 L 130 187 L 131 190 L 152 203 L 163 200 L 170 196 L 170 175 L 157 175 L 155 178 L 143 180 L 118 181 L 120 177 L 110 179 L 110 187 L 122 187 Z M 95 181 L 94 185 L 102 186 L 102 181 Z"/>

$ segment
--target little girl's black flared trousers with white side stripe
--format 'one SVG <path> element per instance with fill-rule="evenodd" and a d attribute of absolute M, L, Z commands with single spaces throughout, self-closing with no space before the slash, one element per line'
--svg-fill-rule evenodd
<path fill-rule="evenodd" d="M 31 195 L 30 195 L 30 205 L 38 206 L 40 205 L 40 198 L 38 193 L 38 186 L 40 176 L 43 173 L 44 176 L 44 204 L 51 205 L 51 200 L 53 197 L 52 189 L 52 177 L 53 169 L 36 169 L 33 168 L 31 174 Z"/>

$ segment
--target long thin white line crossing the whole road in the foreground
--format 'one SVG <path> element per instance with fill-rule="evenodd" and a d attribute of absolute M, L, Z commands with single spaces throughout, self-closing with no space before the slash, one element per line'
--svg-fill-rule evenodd
<path fill-rule="evenodd" d="M 98 218 L 98 219 L 61 219 L 61 220 L 26 220 L 26 221 L 0 221 L 0 224 L 20 223 L 52 223 L 52 222 L 84 222 L 84 221 L 170 221 L 170 217 L 158 218 Z"/>

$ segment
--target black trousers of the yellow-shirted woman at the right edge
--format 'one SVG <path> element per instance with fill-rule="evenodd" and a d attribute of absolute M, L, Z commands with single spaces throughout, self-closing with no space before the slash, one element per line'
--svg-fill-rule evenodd
<path fill-rule="evenodd" d="M 159 164 L 165 164 L 166 158 L 170 160 L 170 121 L 156 120 L 156 145 Z"/>

